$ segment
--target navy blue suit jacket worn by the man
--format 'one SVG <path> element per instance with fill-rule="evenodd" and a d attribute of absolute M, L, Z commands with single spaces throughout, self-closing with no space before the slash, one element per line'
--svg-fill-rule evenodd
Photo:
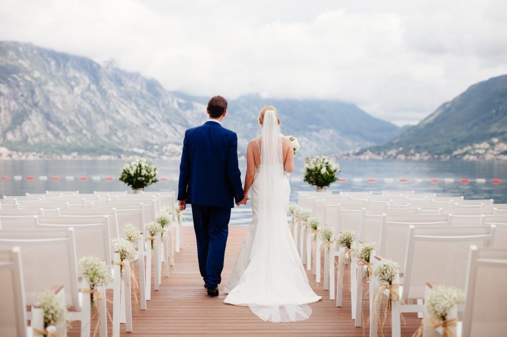
<path fill-rule="evenodd" d="M 178 200 L 234 207 L 243 199 L 238 136 L 215 121 L 185 132 L 179 164 Z"/>

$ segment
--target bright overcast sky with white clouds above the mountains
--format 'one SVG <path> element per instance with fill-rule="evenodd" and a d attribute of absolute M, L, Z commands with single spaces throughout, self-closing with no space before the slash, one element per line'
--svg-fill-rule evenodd
<path fill-rule="evenodd" d="M 168 90 L 338 99 L 398 125 L 507 74 L 506 32 L 505 0 L 0 0 L 2 40 Z"/>

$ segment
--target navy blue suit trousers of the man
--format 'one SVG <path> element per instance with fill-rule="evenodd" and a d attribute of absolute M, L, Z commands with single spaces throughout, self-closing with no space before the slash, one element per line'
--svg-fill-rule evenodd
<path fill-rule="evenodd" d="M 192 217 L 199 270 L 206 287 L 214 289 L 222 281 L 231 208 L 192 204 Z"/>

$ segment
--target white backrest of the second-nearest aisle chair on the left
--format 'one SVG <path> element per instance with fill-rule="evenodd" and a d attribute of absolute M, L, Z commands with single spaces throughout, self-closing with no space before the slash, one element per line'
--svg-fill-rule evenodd
<path fill-rule="evenodd" d="M 63 285 L 65 304 L 81 310 L 74 229 L 0 231 L 0 247 L 19 246 L 23 261 L 26 305 L 34 305 L 37 294 Z"/>

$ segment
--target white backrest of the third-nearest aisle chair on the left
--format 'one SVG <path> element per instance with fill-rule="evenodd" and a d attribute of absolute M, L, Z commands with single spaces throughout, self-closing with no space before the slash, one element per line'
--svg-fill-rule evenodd
<path fill-rule="evenodd" d="M 104 216 L 107 217 L 107 216 Z M 70 222 L 70 221 L 69 221 Z M 80 222 L 80 221 L 72 221 Z M 104 221 L 97 224 L 45 224 L 38 223 L 40 229 L 67 229 L 74 228 L 76 238 L 76 256 L 79 259 L 85 256 L 96 256 L 107 264 L 112 264 L 112 244 L 109 235 L 109 226 Z"/>

